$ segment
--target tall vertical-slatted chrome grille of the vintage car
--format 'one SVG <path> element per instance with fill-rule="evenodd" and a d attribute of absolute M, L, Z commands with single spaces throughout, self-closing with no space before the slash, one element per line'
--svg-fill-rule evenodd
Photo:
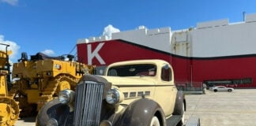
<path fill-rule="evenodd" d="M 96 126 L 100 124 L 103 94 L 103 83 L 85 81 L 83 84 L 77 84 L 74 125 Z"/>

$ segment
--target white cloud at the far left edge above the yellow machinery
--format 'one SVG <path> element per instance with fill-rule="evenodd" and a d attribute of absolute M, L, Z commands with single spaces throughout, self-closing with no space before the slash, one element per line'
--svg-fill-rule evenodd
<path fill-rule="evenodd" d="M 20 46 L 18 46 L 17 43 L 14 43 L 9 40 L 5 40 L 4 35 L 0 35 L 0 43 L 9 45 L 7 50 L 11 50 L 13 52 L 12 54 L 9 55 L 9 58 L 11 60 L 17 58 L 17 53 L 18 53 L 18 50 L 20 49 Z M 0 45 L 0 50 L 6 51 L 6 46 Z"/>

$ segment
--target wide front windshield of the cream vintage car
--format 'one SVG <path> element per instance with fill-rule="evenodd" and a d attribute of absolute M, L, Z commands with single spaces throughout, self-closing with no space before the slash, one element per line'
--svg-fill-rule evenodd
<path fill-rule="evenodd" d="M 108 69 L 107 76 L 156 76 L 156 65 L 119 65 Z"/>

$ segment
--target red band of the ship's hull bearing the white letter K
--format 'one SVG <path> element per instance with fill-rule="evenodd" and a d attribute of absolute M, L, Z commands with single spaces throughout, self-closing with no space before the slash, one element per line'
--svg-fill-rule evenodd
<path fill-rule="evenodd" d="M 90 48 L 90 50 L 88 50 Z M 106 66 L 116 61 L 137 59 L 163 59 L 170 62 L 175 71 L 176 83 L 203 83 L 205 80 L 256 79 L 256 55 L 227 57 L 182 57 L 161 50 L 123 40 L 109 40 L 77 44 L 78 61 L 96 66 Z M 91 57 L 88 58 L 88 57 Z M 220 83 L 221 84 L 221 83 Z M 235 87 L 256 87 L 256 83 L 244 83 Z"/>

